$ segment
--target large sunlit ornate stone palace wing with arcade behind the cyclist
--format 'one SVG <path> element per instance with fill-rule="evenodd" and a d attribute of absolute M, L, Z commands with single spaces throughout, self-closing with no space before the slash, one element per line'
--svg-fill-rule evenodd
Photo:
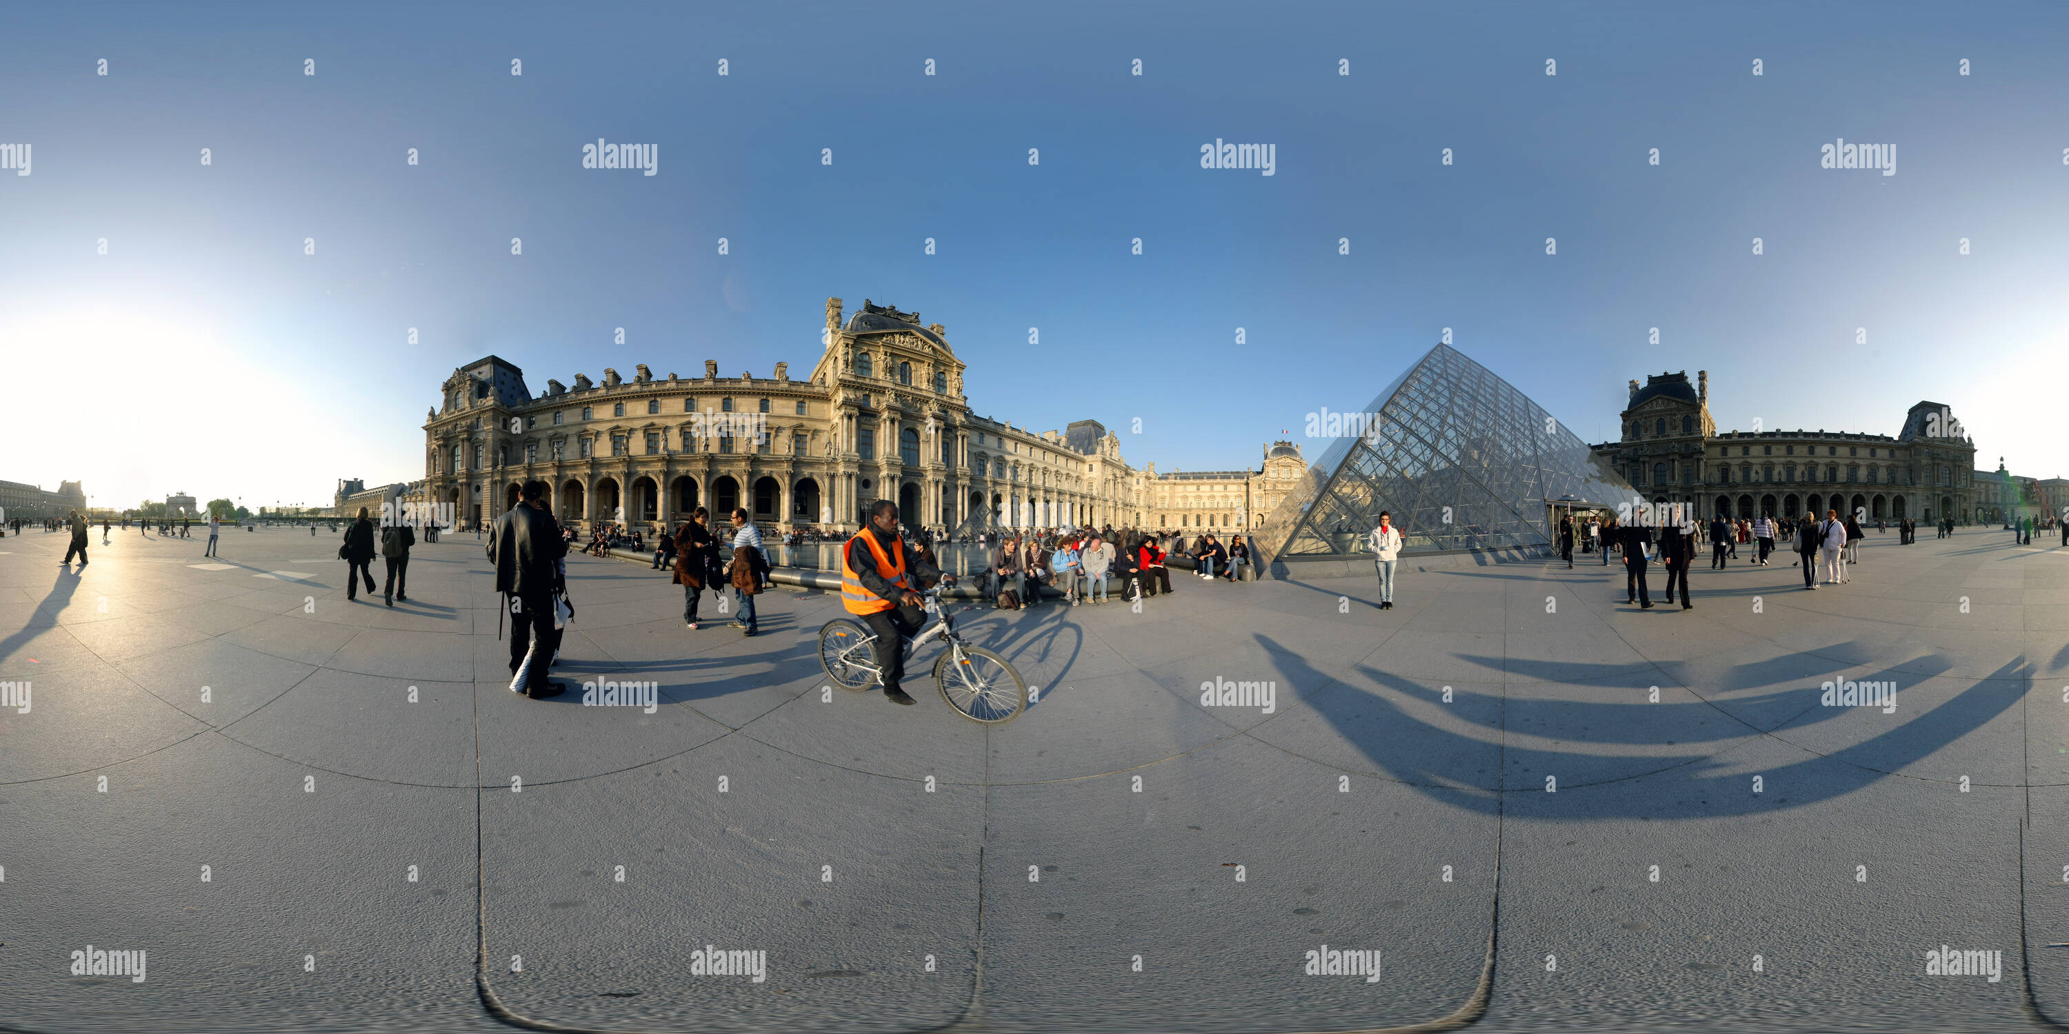
<path fill-rule="evenodd" d="M 523 370 L 486 356 L 453 370 L 424 420 L 424 486 L 461 525 L 509 509 L 542 480 L 563 523 L 672 525 L 695 507 L 747 509 L 776 529 L 861 527 L 875 498 L 908 525 L 1140 523 L 1146 486 L 1099 422 L 1032 432 L 977 416 L 939 323 L 869 300 L 826 300 L 823 352 L 803 378 L 575 374 L 532 395 Z"/>

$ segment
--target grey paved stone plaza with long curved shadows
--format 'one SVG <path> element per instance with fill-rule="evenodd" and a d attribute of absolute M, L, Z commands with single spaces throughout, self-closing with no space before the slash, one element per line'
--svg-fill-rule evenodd
<path fill-rule="evenodd" d="M 83 573 L 64 542 L 0 540 L 8 1030 L 2069 1017 L 2069 550 L 2007 531 L 1870 531 L 1815 594 L 1705 556 L 1690 612 L 1593 556 L 1409 560 L 1390 612 L 1186 573 L 1142 614 L 966 610 L 1041 689 L 989 730 L 931 647 L 917 707 L 828 701 L 838 594 L 691 633 L 666 577 L 571 558 L 557 676 L 658 682 L 646 713 L 505 689 L 474 536 L 418 546 L 395 608 L 346 602 L 331 531 L 211 562 L 95 529 Z M 1204 707 L 1221 678 L 1270 711 Z M 1833 678 L 1895 711 L 1821 705 Z M 87 945 L 147 980 L 72 976 Z M 1324 945 L 1378 980 L 1306 976 Z M 1943 945 L 2001 980 L 1926 976 Z M 701 947 L 766 980 L 693 976 Z"/>

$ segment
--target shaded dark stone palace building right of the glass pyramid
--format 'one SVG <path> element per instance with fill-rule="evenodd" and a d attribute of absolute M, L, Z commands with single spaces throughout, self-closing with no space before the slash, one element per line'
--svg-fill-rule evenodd
<path fill-rule="evenodd" d="M 1630 383 L 1622 438 L 1597 457 L 1651 503 L 1701 515 L 1862 511 L 1877 519 L 1978 519 L 1976 443 L 1947 405 L 1920 401 L 1897 436 L 1850 430 L 1723 430 L 1709 416 L 1709 370 Z"/>

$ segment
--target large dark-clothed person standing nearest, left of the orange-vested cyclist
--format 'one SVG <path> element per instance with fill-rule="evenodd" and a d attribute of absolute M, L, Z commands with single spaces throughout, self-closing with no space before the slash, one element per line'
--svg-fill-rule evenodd
<path fill-rule="evenodd" d="M 561 629 L 552 625 L 561 594 L 561 558 L 567 542 L 552 515 L 540 505 L 546 482 L 526 482 L 517 505 L 497 517 L 488 531 L 488 560 L 497 565 L 497 591 L 511 616 L 511 693 L 532 699 L 559 697 L 565 682 L 552 682 L 546 668 L 561 649 Z M 526 672 L 523 682 L 517 674 Z"/>

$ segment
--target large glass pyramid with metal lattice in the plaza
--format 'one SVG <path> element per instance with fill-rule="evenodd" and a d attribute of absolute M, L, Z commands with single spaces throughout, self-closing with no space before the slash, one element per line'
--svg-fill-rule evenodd
<path fill-rule="evenodd" d="M 1436 345 L 1345 422 L 1264 542 L 1283 558 L 1361 554 L 1390 511 L 1403 552 L 1531 550 L 1552 544 L 1548 500 L 1568 496 L 1614 509 L 1639 492 L 1508 381 Z"/>

